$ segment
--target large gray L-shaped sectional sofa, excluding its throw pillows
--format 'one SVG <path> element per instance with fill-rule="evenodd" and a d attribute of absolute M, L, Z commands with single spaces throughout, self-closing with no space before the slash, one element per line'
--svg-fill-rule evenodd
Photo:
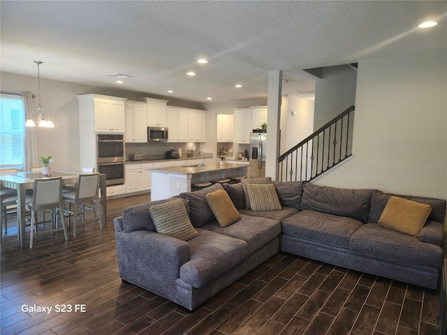
<path fill-rule="evenodd" d="M 437 288 L 442 267 L 446 200 L 402 196 L 430 204 L 418 237 L 377 222 L 390 194 L 291 181 L 274 182 L 281 209 L 247 208 L 243 184 L 214 184 L 179 197 L 198 236 L 182 241 L 156 232 L 149 209 L 174 198 L 138 204 L 115 218 L 119 274 L 189 310 L 279 251 L 397 281 Z M 222 227 L 206 195 L 225 189 L 240 219 Z"/>

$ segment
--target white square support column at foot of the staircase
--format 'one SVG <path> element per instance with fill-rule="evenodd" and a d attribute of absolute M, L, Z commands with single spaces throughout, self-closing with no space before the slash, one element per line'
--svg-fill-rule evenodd
<path fill-rule="evenodd" d="M 278 156 L 281 125 L 281 89 L 282 71 L 268 73 L 268 114 L 267 114 L 267 151 L 265 156 L 265 177 L 278 180 Z"/>

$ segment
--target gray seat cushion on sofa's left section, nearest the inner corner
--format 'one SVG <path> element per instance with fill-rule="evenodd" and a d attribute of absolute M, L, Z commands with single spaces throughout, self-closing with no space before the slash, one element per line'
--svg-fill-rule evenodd
<path fill-rule="evenodd" d="M 246 241 L 249 245 L 250 253 L 257 251 L 281 234 L 280 221 L 271 220 L 270 218 L 262 218 L 260 220 L 256 216 L 248 215 L 242 215 L 239 221 L 228 227 L 221 227 L 218 223 L 214 222 L 208 223 L 202 228 Z"/>

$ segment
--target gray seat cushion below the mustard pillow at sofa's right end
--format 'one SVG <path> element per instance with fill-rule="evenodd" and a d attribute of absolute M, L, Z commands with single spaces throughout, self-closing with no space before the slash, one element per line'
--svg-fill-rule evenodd
<path fill-rule="evenodd" d="M 377 223 L 366 223 L 354 232 L 349 248 L 369 258 L 400 262 L 410 267 L 442 267 L 444 259 L 441 246 L 424 243 L 417 237 L 384 228 Z"/>

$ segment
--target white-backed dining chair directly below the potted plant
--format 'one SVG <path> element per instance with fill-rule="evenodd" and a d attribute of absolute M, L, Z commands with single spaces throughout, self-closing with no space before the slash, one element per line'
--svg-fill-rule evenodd
<path fill-rule="evenodd" d="M 46 232 L 64 231 L 65 240 L 68 239 L 67 229 L 64 222 L 64 215 L 62 214 L 62 179 L 56 178 L 44 178 L 34 179 L 33 194 L 27 195 L 25 200 L 25 206 L 31 211 L 31 229 L 29 236 L 29 248 L 33 248 L 34 234 L 41 234 Z M 42 230 L 40 232 L 34 232 L 37 222 L 36 211 L 50 209 L 51 215 L 51 228 L 50 230 Z M 54 216 L 59 216 L 62 227 L 54 226 Z M 42 221 L 40 223 L 43 223 Z"/>

